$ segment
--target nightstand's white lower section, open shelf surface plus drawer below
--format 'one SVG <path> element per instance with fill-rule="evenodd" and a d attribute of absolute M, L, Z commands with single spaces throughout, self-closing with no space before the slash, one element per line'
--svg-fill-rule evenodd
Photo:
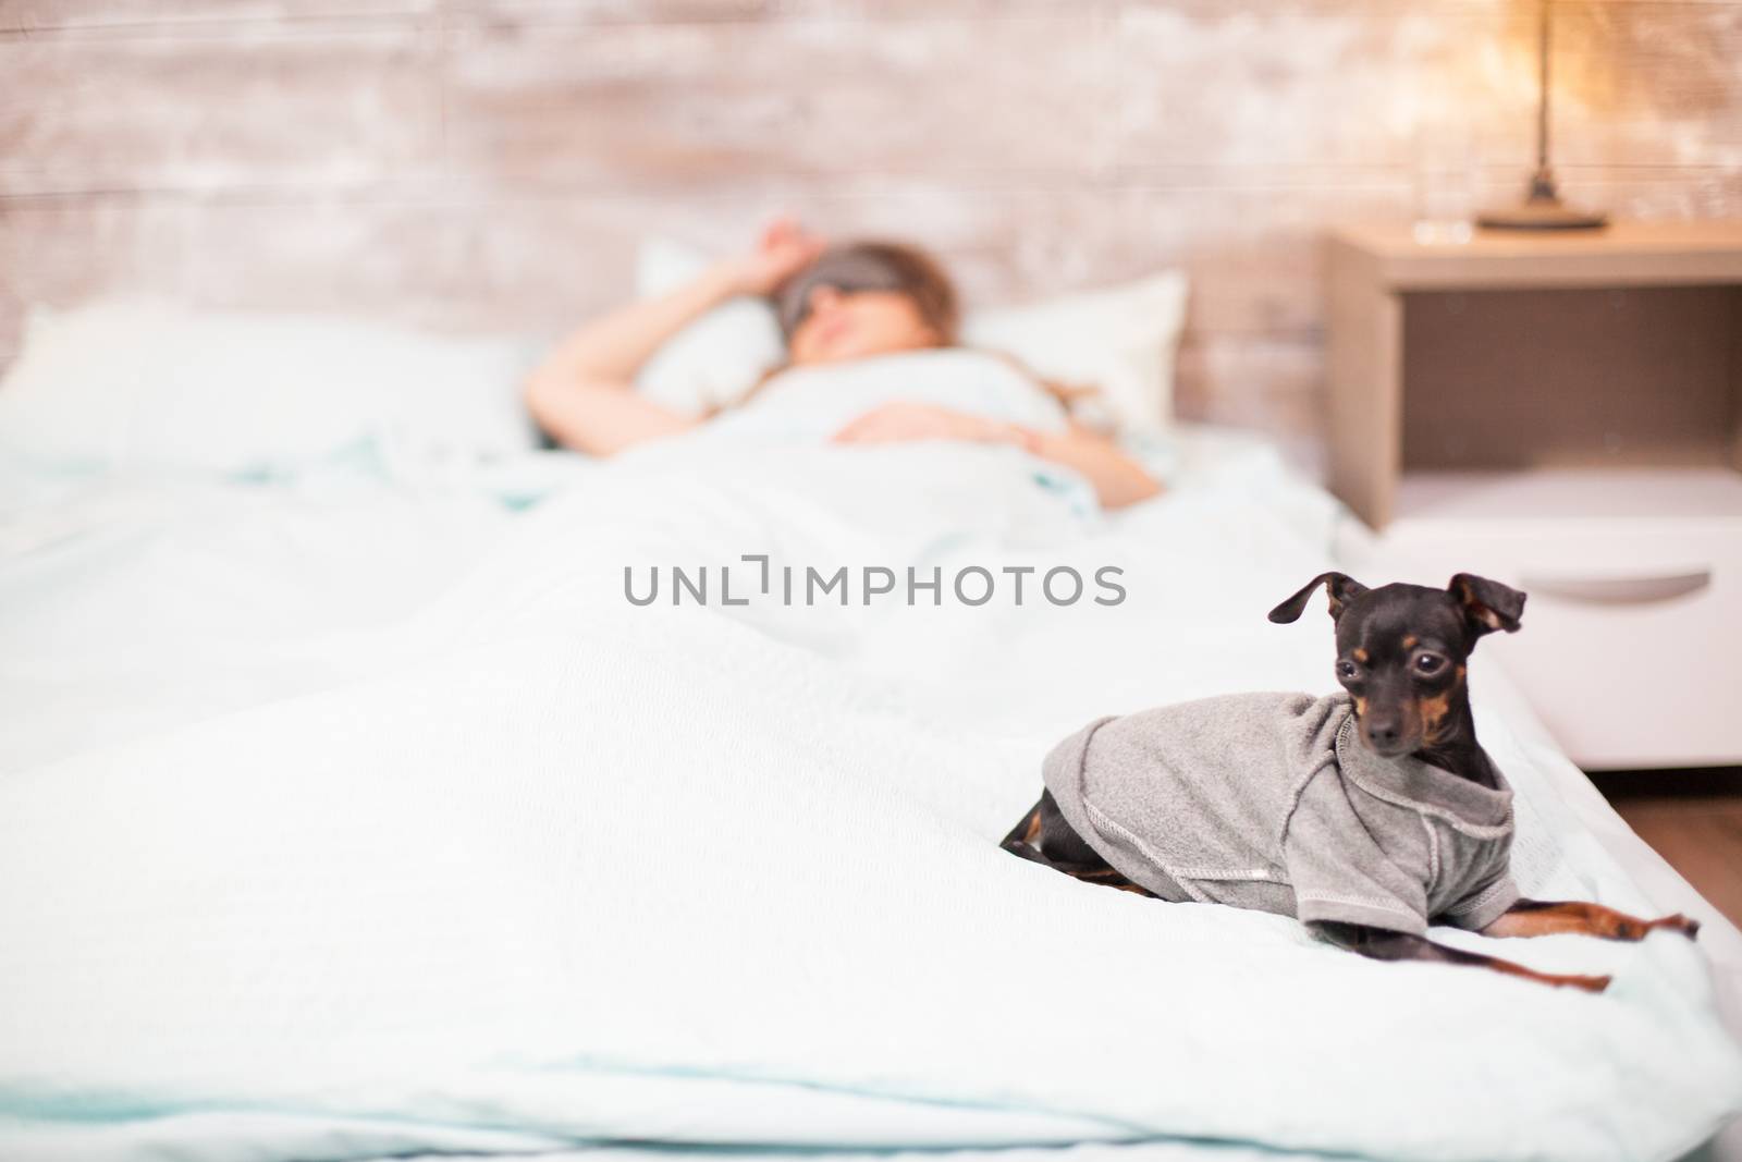
<path fill-rule="evenodd" d="M 1529 594 L 1523 631 L 1481 650 L 1582 767 L 1742 763 L 1742 474 L 1406 476 L 1385 533 L 1350 524 L 1340 551 L 1367 584 L 1470 571 Z"/>

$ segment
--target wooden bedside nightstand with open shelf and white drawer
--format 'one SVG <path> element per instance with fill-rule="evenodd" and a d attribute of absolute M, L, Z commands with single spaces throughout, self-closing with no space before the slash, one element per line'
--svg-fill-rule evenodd
<path fill-rule="evenodd" d="M 1343 551 L 1528 591 L 1493 652 L 1583 767 L 1742 763 L 1742 221 L 1348 226 L 1327 279 Z"/>

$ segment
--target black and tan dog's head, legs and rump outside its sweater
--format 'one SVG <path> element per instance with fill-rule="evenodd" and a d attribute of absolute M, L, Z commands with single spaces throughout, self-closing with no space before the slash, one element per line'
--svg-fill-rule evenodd
<path fill-rule="evenodd" d="M 1329 596 L 1336 625 L 1336 678 L 1348 692 L 1361 744 L 1385 760 L 1415 756 L 1477 786 L 1502 787 L 1503 779 L 1475 740 L 1465 662 L 1484 634 L 1519 629 L 1524 594 L 1470 573 L 1458 573 L 1446 589 L 1406 584 L 1367 589 L 1343 573 L 1320 573 L 1272 610 L 1270 620 L 1298 620 L 1319 585 Z M 1040 801 L 1005 836 L 1003 848 L 1078 880 L 1151 894 L 1113 868 L 1071 828 L 1050 791 L 1042 793 Z M 1411 932 L 1343 922 L 1315 922 L 1313 927 L 1333 942 L 1376 960 L 1481 965 L 1590 991 L 1603 991 L 1610 983 L 1606 976 L 1535 972 Z M 1481 932 L 1573 932 L 1637 941 L 1653 929 L 1691 937 L 1698 923 L 1681 915 L 1639 920 L 1599 904 L 1521 899 Z"/>

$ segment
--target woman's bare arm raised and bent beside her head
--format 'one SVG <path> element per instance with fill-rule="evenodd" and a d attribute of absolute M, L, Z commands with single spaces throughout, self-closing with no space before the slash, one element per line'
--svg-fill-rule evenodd
<path fill-rule="evenodd" d="M 566 448 L 608 456 L 702 423 L 645 399 L 636 373 L 660 343 L 735 294 L 766 294 L 822 251 L 794 223 L 768 228 L 751 254 L 719 263 L 692 282 L 594 319 L 563 340 L 528 376 L 526 406 Z"/>

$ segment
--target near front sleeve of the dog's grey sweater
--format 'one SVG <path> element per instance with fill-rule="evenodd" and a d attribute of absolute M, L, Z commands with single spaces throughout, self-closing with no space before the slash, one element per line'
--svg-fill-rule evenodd
<path fill-rule="evenodd" d="M 1320 772 L 1301 791 L 1282 840 L 1294 915 L 1303 923 L 1340 920 L 1390 932 L 1427 932 L 1427 888 L 1374 843 L 1334 775 Z"/>

